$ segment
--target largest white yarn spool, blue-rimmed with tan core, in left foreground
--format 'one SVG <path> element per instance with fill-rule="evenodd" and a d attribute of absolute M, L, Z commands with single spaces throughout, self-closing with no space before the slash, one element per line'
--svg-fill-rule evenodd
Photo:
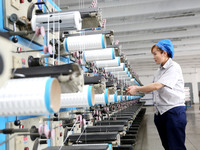
<path fill-rule="evenodd" d="M 43 115 L 60 109 L 60 84 L 50 77 L 12 79 L 0 89 L 0 116 Z"/>

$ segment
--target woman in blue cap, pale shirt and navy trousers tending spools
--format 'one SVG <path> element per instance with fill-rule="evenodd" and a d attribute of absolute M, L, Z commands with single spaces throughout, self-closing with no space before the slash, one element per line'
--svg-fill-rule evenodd
<path fill-rule="evenodd" d="M 165 150 L 186 150 L 186 107 L 184 80 L 181 67 L 172 60 L 174 47 L 169 39 L 159 41 L 151 48 L 156 64 L 159 64 L 153 83 L 130 86 L 127 94 L 153 92 L 155 106 L 154 123 Z"/>

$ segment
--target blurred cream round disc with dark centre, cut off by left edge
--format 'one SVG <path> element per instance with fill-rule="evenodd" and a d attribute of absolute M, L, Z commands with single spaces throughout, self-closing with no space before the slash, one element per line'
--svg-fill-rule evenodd
<path fill-rule="evenodd" d="M 11 75 L 11 48 L 12 43 L 0 36 L 0 87 L 3 86 Z"/>

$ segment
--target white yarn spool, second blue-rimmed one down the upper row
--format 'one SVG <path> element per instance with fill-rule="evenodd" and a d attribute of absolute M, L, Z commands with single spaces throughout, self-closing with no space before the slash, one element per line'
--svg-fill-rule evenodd
<path fill-rule="evenodd" d="M 114 48 L 105 48 L 101 50 L 83 51 L 83 59 L 86 62 L 115 59 L 115 50 Z"/>

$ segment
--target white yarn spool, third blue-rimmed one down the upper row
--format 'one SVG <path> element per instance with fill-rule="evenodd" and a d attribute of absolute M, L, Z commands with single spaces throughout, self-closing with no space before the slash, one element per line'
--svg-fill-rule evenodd
<path fill-rule="evenodd" d="M 97 68 L 117 67 L 120 66 L 120 57 L 115 57 L 113 60 L 103 60 L 95 62 Z"/>

